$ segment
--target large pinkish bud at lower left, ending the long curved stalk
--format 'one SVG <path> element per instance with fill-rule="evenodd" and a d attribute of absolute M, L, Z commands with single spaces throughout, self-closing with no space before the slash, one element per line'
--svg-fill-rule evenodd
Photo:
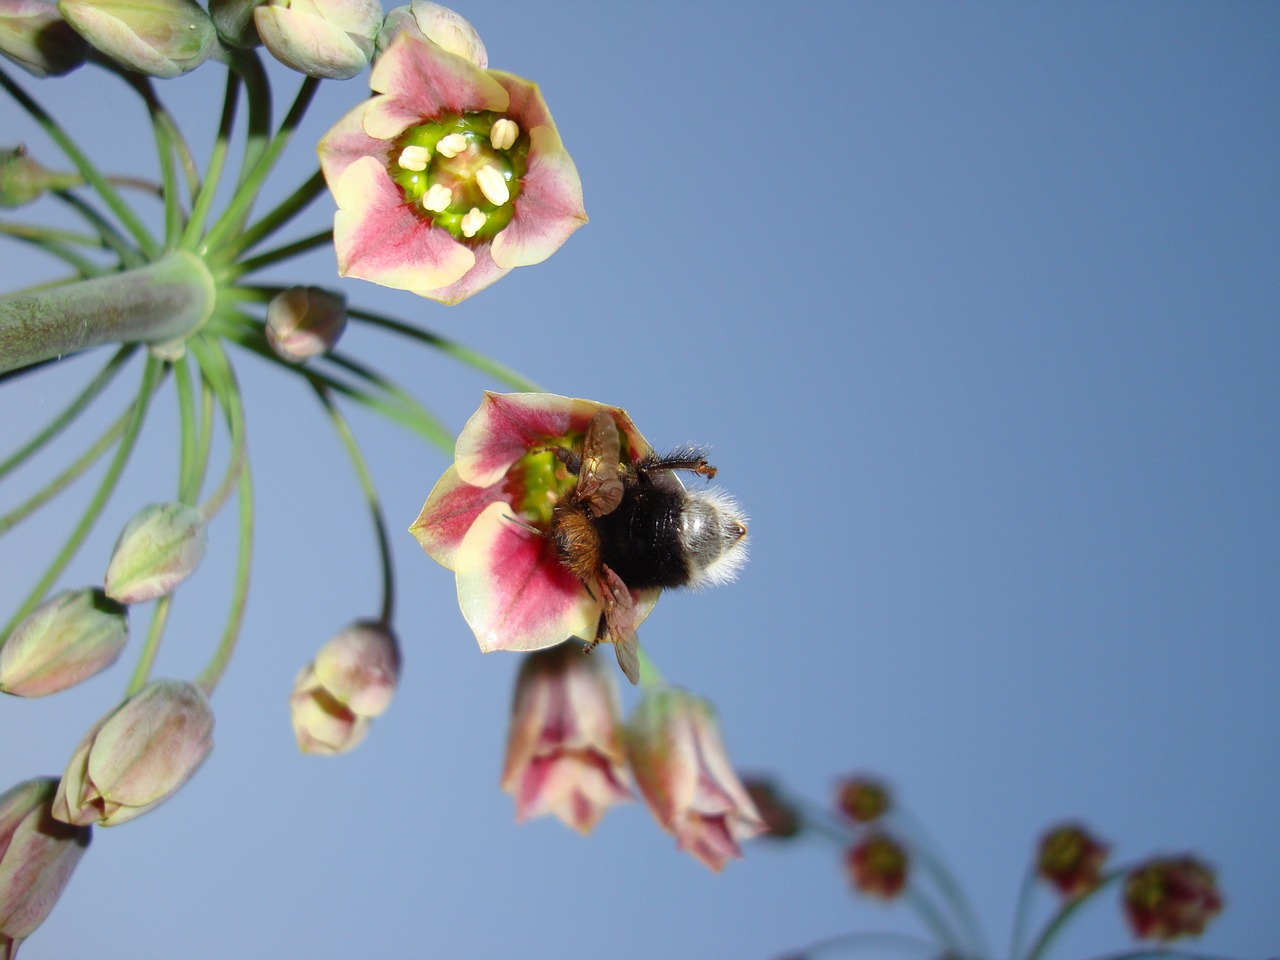
<path fill-rule="evenodd" d="M 195 684 L 154 680 L 81 740 L 58 785 L 54 817 L 111 827 L 168 800 L 214 749 L 214 712 Z"/>

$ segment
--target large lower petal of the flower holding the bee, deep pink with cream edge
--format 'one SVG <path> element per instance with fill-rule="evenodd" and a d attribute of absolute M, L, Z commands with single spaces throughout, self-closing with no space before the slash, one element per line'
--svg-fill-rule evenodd
<path fill-rule="evenodd" d="M 454 556 L 458 605 L 480 649 L 539 650 L 594 635 L 599 604 L 550 541 L 508 520 L 509 513 L 507 503 L 490 503 Z"/>

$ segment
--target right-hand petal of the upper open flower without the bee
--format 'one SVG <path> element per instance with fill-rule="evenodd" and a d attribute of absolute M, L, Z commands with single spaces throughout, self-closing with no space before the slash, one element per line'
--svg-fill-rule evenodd
<path fill-rule="evenodd" d="M 582 182 L 559 136 L 552 127 L 534 127 L 529 136 L 529 169 L 515 215 L 493 238 L 494 262 L 506 268 L 540 264 L 586 223 Z"/>

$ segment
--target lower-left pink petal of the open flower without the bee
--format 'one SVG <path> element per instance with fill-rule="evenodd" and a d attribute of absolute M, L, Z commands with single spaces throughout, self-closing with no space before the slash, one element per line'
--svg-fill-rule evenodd
<path fill-rule="evenodd" d="M 332 189 L 340 275 L 422 293 L 453 283 L 475 264 L 470 250 L 413 212 L 374 157 L 353 161 Z"/>

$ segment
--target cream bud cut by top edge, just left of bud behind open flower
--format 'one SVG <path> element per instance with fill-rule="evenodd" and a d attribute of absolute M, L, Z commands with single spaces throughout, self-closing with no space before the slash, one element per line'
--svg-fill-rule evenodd
<path fill-rule="evenodd" d="M 270 0 L 253 23 L 271 55 L 308 77 L 349 79 L 369 65 L 383 23 L 379 0 Z"/>

